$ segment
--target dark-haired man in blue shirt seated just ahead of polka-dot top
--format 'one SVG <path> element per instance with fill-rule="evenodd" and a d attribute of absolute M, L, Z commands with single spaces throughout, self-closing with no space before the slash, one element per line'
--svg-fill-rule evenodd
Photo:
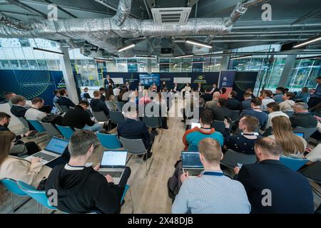
<path fill-rule="evenodd" d="M 243 115 L 254 116 L 260 122 L 260 129 L 264 129 L 267 123 L 267 113 L 264 113 L 260 107 L 262 107 L 262 101 L 260 100 L 260 98 L 252 98 L 251 109 L 243 110 L 240 116 L 243 116 Z"/>

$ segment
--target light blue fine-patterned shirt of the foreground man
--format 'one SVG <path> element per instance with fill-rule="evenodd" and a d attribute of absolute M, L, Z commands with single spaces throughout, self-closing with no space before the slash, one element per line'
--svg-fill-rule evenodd
<path fill-rule="evenodd" d="M 202 175 L 183 182 L 173 202 L 172 213 L 249 214 L 250 209 L 248 196 L 240 182 L 224 175 Z"/>

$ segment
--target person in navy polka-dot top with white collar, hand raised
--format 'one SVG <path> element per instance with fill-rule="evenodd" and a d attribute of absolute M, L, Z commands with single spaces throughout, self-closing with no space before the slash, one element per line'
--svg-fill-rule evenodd
<path fill-rule="evenodd" d="M 254 144 L 260 136 L 255 135 L 255 129 L 258 129 L 259 120 L 250 115 L 244 115 L 240 118 L 238 128 L 243 131 L 240 135 L 230 136 L 230 123 L 225 119 L 224 149 L 243 152 L 247 155 L 255 155 Z"/>

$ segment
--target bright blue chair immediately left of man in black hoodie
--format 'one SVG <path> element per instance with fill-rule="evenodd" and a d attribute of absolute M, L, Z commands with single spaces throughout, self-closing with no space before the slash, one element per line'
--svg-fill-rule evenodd
<path fill-rule="evenodd" d="M 41 214 L 41 207 L 47 207 L 48 209 L 57 210 L 56 207 L 53 207 L 49 204 L 49 200 L 46 196 L 46 191 L 36 190 L 35 187 L 26 184 L 22 181 L 17 181 L 18 186 L 22 191 L 24 191 L 27 195 L 32 197 L 38 203 L 38 213 Z M 52 213 L 54 213 L 54 211 Z"/>

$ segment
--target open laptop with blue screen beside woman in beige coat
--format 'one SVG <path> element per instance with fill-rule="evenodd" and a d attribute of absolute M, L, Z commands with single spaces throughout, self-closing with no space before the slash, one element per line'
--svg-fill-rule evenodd
<path fill-rule="evenodd" d="M 61 138 L 51 138 L 44 150 L 36 152 L 34 155 L 25 157 L 25 160 L 31 160 L 33 157 L 42 157 L 41 163 L 46 165 L 47 163 L 55 160 L 63 155 L 68 147 L 68 140 L 62 140 Z"/>

